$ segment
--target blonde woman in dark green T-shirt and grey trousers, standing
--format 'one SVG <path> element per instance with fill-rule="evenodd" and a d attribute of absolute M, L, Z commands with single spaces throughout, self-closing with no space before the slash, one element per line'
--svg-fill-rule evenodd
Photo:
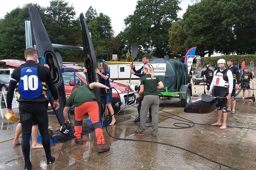
<path fill-rule="evenodd" d="M 159 95 L 157 89 L 164 88 L 163 82 L 158 76 L 154 75 L 151 65 L 145 64 L 143 66 L 145 76 L 141 77 L 140 92 L 137 98 L 140 98 L 144 93 L 144 98 L 141 103 L 140 110 L 140 129 L 135 131 L 136 135 L 144 136 L 146 127 L 147 111 L 151 107 L 152 114 L 152 130 L 151 135 L 158 135 L 158 112 L 159 112 Z"/>

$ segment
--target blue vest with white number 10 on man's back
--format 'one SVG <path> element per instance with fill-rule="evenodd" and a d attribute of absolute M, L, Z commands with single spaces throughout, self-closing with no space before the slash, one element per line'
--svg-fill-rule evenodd
<path fill-rule="evenodd" d="M 39 98 L 43 92 L 43 83 L 38 76 L 38 65 L 37 67 L 22 66 L 18 85 L 19 94 L 24 99 Z"/>

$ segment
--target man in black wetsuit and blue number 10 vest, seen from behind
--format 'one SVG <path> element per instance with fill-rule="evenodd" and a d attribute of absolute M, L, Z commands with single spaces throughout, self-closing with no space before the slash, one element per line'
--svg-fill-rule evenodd
<path fill-rule="evenodd" d="M 48 68 L 36 63 L 37 51 L 34 48 L 28 48 L 24 51 L 26 63 L 15 68 L 9 82 L 9 88 L 6 96 L 7 112 L 12 111 L 12 96 L 17 83 L 20 98 L 19 115 L 22 127 L 21 149 L 25 161 L 25 170 L 31 170 L 30 161 L 30 143 L 33 121 L 38 124 L 38 129 L 42 136 L 42 144 L 45 149 L 47 164 L 55 161 L 51 155 L 50 137 L 48 135 L 48 100 L 45 98 L 47 85 L 54 98 L 53 107 L 59 108 L 58 92 L 52 81 L 51 73 Z M 47 85 L 46 85 L 47 83 Z M 15 114 L 14 114 L 15 115 Z"/>

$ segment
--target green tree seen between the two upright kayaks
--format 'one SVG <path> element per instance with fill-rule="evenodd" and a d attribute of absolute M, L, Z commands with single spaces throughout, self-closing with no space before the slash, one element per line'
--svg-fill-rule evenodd
<path fill-rule="evenodd" d="M 41 16 L 49 38 L 54 44 L 80 45 L 81 27 L 73 5 L 65 0 L 52 0 L 46 7 L 45 15 Z M 64 61 L 74 61 L 79 51 L 70 49 L 55 49 L 62 55 Z M 74 61 L 75 62 L 75 61 Z"/>

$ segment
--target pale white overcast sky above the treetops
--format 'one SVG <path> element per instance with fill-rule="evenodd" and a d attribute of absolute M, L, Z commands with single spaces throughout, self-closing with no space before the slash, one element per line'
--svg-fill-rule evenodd
<path fill-rule="evenodd" d="M 93 9 L 96 9 L 98 14 L 102 12 L 103 14 L 108 15 L 116 34 L 120 33 L 125 26 L 123 19 L 128 15 L 133 14 L 137 5 L 137 0 L 66 0 L 66 2 L 69 2 L 69 5 L 73 5 L 77 17 L 79 17 L 81 12 L 85 14 L 90 6 L 92 6 Z M 22 8 L 23 5 L 27 3 L 37 3 L 41 7 L 50 6 L 50 0 L 12 0 L 10 3 L 6 2 L 6 5 L 1 3 L 0 18 L 3 18 L 7 12 L 11 12 L 16 7 Z M 180 17 L 186 11 L 188 4 L 192 5 L 191 0 L 182 0 L 180 7 L 183 10 L 178 13 Z"/>

